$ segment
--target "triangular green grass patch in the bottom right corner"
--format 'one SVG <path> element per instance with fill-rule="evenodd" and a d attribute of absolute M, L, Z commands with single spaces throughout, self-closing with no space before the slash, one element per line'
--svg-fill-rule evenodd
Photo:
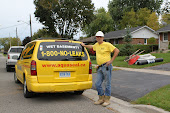
<path fill-rule="evenodd" d="M 170 84 L 133 101 L 134 104 L 153 105 L 170 111 Z"/>

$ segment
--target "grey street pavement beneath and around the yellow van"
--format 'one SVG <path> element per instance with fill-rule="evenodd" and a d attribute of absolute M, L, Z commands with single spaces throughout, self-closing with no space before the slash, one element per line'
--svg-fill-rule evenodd
<path fill-rule="evenodd" d="M 73 93 L 37 94 L 24 98 L 23 85 L 16 84 L 13 72 L 6 72 L 5 57 L 0 54 L 0 113 L 113 113 L 96 106 L 83 95 Z"/>

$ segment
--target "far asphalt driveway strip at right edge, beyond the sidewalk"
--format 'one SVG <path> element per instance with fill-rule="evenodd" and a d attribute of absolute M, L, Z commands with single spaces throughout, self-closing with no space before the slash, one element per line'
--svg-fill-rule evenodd
<path fill-rule="evenodd" d="M 152 66 L 152 67 L 148 67 L 145 69 L 170 71 L 170 63 L 162 64 L 162 65 L 158 65 L 158 66 Z"/>

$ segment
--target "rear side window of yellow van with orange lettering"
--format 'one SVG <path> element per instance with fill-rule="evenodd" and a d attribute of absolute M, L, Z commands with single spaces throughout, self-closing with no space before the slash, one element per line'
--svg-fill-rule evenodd
<path fill-rule="evenodd" d="M 27 47 L 22 52 L 23 59 L 30 59 L 32 57 L 34 47 L 35 47 L 35 42 L 27 45 Z"/>

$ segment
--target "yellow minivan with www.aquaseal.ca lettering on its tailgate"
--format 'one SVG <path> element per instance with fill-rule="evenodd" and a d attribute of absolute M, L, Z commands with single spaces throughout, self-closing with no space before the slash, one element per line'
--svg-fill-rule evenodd
<path fill-rule="evenodd" d="M 14 80 L 33 93 L 71 92 L 92 87 L 92 64 L 86 48 L 73 40 L 39 39 L 28 43 L 15 65 Z"/>

